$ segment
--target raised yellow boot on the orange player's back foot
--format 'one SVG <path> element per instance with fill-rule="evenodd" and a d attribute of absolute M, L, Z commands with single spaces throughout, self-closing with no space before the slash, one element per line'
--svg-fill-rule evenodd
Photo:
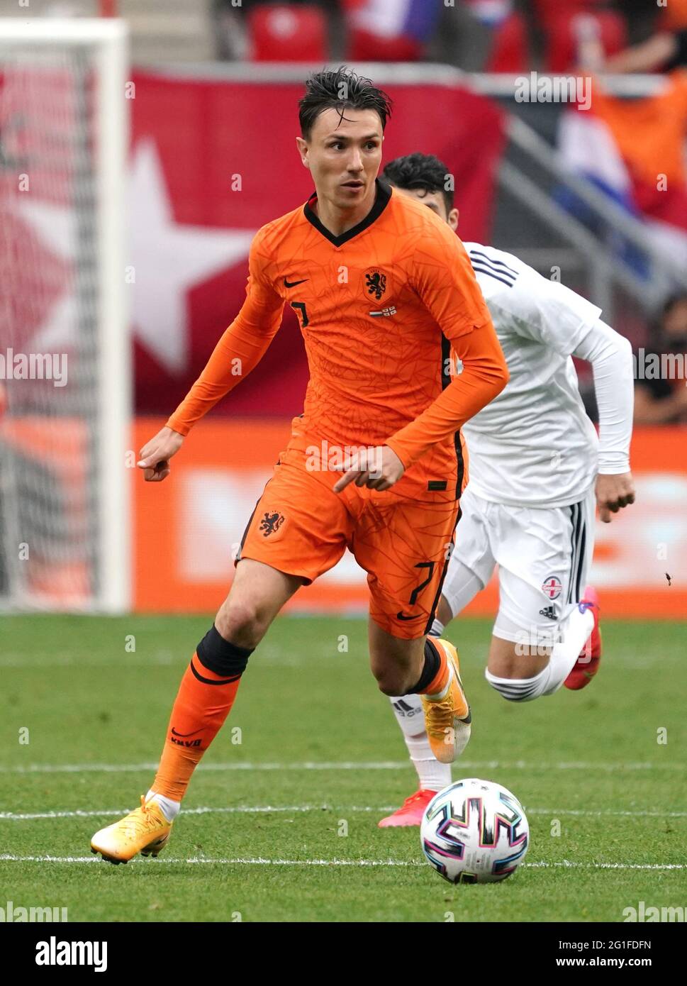
<path fill-rule="evenodd" d="M 470 739 L 472 717 L 460 681 L 458 652 L 447 640 L 432 637 L 432 643 L 447 656 L 448 683 L 441 694 L 432 698 L 420 695 L 425 713 L 425 729 L 432 752 L 440 763 L 452 763 Z"/>

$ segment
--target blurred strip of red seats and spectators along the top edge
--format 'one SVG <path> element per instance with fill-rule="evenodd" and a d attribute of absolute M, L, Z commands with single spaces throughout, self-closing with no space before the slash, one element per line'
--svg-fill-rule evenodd
<path fill-rule="evenodd" d="M 660 72 L 687 0 L 213 0 L 221 58 L 441 61 L 467 71 Z"/>

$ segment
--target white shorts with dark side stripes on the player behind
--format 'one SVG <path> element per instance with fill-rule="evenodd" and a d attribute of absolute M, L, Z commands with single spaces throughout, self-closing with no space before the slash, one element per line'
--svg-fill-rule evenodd
<path fill-rule="evenodd" d="M 550 645 L 584 593 L 594 550 L 593 489 L 569 507 L 534 508 L 483 500 L 468 485 L 460 509 L 442 589 L 453 615 L 484 589 L 498 564 L 494 636 Z"/>

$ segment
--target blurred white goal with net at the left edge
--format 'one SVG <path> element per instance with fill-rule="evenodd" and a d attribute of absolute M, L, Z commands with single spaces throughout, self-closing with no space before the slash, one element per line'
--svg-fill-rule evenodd
<path fill-rule="evenodd" d="M 127 28 L 0 19 L 0 607 L 130 605 Z"/>

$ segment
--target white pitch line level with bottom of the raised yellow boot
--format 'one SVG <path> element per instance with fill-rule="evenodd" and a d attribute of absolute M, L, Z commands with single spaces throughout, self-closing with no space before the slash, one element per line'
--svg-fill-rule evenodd
<path fill-rule="evenodd" d="M 302 763 L 241 762 L 200 763 L 198 770 L 405 770 L 408 760 L 307 760 Z M 687 770 L 685 763 L 608 763 L 593 760 L 561 761 L 559 763 L 536 763 L 528 760 L 459 760 L 456 768 L 464 770 Z M 157 770 L 158 763 L 32 763 L 26 766 L 0 766 L 2 774 L 81 774 L 81 773 L 135 773 Z M 455 769 L 455 768 L 454 768 Z"/>

